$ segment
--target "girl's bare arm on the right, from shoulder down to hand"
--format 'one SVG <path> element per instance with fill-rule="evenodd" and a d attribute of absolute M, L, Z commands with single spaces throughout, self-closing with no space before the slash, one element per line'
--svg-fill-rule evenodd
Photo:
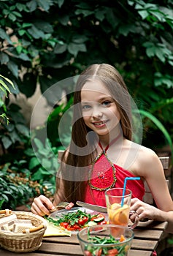
<path fill-rule="evenodd" d="M 168 221 L 169 227 L 171 227 L 173 225 L 172 197 L 169 193 L 161 161 L 155 152 L 149 148 L 143 148 L 139 154 L 137 175 L 142 176 L 147 181 L 157 208 L 134 198 L 131 200 L 131 210 L 137 211 L 139 219 Z"/>

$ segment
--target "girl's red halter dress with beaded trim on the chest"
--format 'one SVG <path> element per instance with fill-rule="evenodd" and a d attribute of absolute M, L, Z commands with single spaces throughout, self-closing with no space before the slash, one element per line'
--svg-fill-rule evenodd
<path fill-rule="evenodd" d="M 117 138 L 116 138 L 117 139 Z M 106 206 L 105 190 L 113 187 L 123 187 L 126 177 L 134 177 L 128 170 L 113 164 L 107 157 L 107 149 L 115 140 L 103 149 L 101 144 L 101 154 L 93 161 L 93 165 L 89 170 L 88 181 L 86 181 L 85 202 L 96 204 L 98 206 Z M 142 200 L 145 194 L 145 187 L 142 180 L 128 181 L 126 188 L 132 192 L 132 198 L 137 197 Z"/>

